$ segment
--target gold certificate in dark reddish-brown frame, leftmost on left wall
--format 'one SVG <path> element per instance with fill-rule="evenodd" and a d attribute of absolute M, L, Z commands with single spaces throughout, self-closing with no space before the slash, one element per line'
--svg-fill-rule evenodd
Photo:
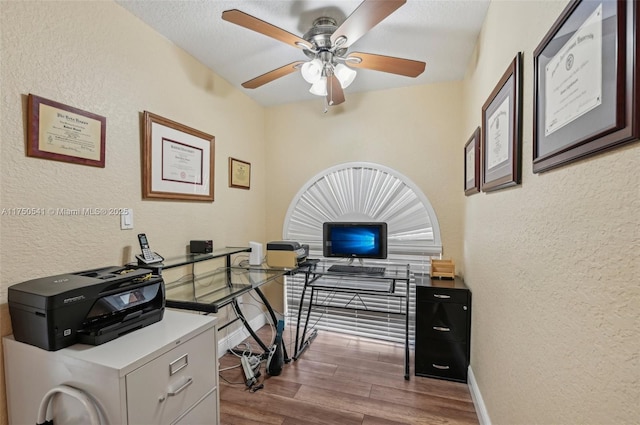
<path fill-rule="evenodd" d="M 104 168 L 107 119 L 29 94 L 27 156 Z"/>

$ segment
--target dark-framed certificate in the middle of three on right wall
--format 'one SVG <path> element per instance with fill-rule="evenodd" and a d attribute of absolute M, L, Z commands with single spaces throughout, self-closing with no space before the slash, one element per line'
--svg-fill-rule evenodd
<path fill-rule="evenodd" d="M 518 52 L 482 106 L 483 192 L 520 184 L 522 53 Z"/>

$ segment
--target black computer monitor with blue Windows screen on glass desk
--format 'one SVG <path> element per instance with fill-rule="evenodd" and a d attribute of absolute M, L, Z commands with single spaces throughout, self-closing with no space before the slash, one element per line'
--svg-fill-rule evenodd
<path fill-rule="evenodd" d="M 326 222 L 322 255 L 340 258 L 387 258 L 387 223 Z"/>

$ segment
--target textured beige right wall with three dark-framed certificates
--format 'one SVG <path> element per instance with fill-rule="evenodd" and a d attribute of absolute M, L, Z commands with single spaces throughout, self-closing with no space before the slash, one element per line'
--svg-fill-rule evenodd
<path fill-rule="evenodd" d="M 466 133 L 524 52 L 522 185 L 465 201 L 471 366 L 494 424 L 640 417 L 640 145 L 532 173 L 533 51 L 566 2 L 492 2 L 464 81 Z"/>

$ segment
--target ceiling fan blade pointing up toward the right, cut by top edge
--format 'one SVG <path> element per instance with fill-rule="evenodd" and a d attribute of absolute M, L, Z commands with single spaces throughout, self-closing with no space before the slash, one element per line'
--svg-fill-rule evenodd
<path fill-rule="evenodd" d="M 346 37 L 346 42 L 341 46 L 352 45 L 406 2 L 407 0 L 364 0 L 331 34 L 331 44 L 333 45 L 341 37 Z"/>

